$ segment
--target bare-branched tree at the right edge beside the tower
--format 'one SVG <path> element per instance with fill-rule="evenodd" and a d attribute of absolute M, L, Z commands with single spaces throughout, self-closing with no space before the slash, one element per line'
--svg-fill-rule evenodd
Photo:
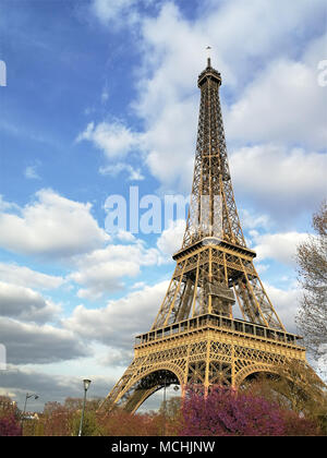
<path fill-rule="evenodd" d="M 315 357 L 327 351 L 327 202 L 313 215 L 315 234 L 298 246 L 299 280 L 304 293 L 296 324 Z"/>

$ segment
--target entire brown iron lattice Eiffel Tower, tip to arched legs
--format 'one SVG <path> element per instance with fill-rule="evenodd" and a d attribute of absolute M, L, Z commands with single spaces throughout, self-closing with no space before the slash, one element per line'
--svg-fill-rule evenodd
<path fill-rule="evenodd" d="M 100 410 L 134 412 L 171 384 L 239 387 L 257 373 L 305 362 L 301 337 L 286 332 L 246 246 L 231 177 L 219 100 L 220 73 L 199 74 L 197 143 L 182 248 L 155 322 L 136 337 L 135 355 Z M 240 318 L 234 309 L 239 308 Z M 241 318 L 242 317 L 242 318 Z"/>

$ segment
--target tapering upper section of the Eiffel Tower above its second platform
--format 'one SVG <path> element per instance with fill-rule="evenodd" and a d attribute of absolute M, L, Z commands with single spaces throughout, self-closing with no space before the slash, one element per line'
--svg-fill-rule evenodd
<path fill-rule="evenodd" d="M 211 68 L 208 57 L 208 67 L 197 79 L 201 105 L 192 195 L 183 248 L 204 237 L 217 237 L 246 246 L 228 165 L 219 98 L 220 85 L 221 75 Z"/>

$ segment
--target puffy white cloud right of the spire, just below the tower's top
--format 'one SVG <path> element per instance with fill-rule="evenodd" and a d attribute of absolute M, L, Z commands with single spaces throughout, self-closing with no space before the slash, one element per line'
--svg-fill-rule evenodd
<path fill-rule="evenodd" d="M 325 148 L 326 101 L 326 93 L 317 84 L 316 67 L 278 59 L 257 73 L 227 110 L 229 140 Z"/>

